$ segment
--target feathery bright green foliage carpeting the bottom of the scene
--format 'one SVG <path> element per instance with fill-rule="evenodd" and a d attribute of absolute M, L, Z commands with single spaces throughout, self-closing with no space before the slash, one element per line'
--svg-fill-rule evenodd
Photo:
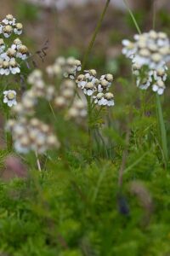
<path fill-rule="evenodd" d="M 142 152 L 139 152 L 138 157 Z M 72 158 L 74 158 L 72 156 Z M 129 155 L 127 166 L 137 159 Z M 73 159 L 72 159 L 73 160 Z M 73 160 L 74 161 L 74 160 Z M 1 182 L 0 247 L 12 255 L 167 255 L 170 253 L 169 186 L 154 152 L 125 172 L 123 194 L 118 166 L 110 160 L 79 168 L 48 161 L 48 172 L 27 180 Z M 150 190 L 154 212 L 147 217 L 131 181 Z M 128 211 L 123 211 L 127 204 Z M 158 222 L 159 219 L 159 222 Z M 161 252 L 161 254 L 160 254 Z M 167 253 L 167 254 L 166 254 Z"/>

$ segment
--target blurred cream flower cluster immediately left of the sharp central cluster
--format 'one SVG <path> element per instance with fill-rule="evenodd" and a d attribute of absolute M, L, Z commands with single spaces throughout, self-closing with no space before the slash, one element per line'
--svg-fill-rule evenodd
<path fill-rule="evenodd" d="M 82 69 L 81 61 L 74 57 L 58 57 L 54 64 L 48 66 L 46 71 L 49 78 L 59 78 L 59 87 L 54 97 L 54 106 L 65 111 L 65 119 L 73 119 L 81 123 L 87 116 L 87 105 L 82 99 L 75 98 L 77 72 Z"/>

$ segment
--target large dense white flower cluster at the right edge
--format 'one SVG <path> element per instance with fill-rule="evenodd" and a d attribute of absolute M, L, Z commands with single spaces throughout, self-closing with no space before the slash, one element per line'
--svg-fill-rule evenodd
<path fill-rule="evenodd" d="M 167 34 L 151 30 L 134 35 L 134 40 L 122 40 L 122 53 L 132 60 L 137 86 L 146 90 L 151 85 L 153 91 L 163 94 L 167 79 L 166 63 L 170 61 L 170 41 Z"/>

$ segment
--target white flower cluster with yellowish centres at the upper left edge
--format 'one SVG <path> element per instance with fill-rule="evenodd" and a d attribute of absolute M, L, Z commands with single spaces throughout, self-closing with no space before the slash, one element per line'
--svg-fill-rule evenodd
<path fill-rule="evenodd" d="M 22 44 L 20 38 L 15 38 L 13 43 L 8 45 L 8 39 L 12 34 L 20 35 L 22 24 L 16 23 L 13 15 L 7 15 L 0 23 L 0 75 L 20 73 L 20 60 L 26 60 L 30 55 L 26 45 Z"/>

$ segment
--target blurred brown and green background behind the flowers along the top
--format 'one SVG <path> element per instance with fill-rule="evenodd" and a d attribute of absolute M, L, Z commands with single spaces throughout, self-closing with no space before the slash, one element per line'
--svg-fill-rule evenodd
<path fill-rule="evenodd" d="M 1 0 L 0 15 L 12 14 L 24 25 L 23 42 L 31 53 L 43 49 L 47 55 L 37 56 L 37 66 L 45 67 L 57 55 L 74 55 L 82 59 L 105 0 Z M 152 27 L 153 5 L 156 8 L 156 30 L 169 33 L 170 1 L 128 0 L 129 7 L 142 31 Z M 111 5 L 89 58 L 90 67 L 119 75 L 126 71 L 121 55 L 122 38 L 132 38 L 136 32 L 123 0 L 111 0 Z M 42 61 L 43 59 L 43 61 Z M 89 67 L 89 63 L 88 63 Z"/>

